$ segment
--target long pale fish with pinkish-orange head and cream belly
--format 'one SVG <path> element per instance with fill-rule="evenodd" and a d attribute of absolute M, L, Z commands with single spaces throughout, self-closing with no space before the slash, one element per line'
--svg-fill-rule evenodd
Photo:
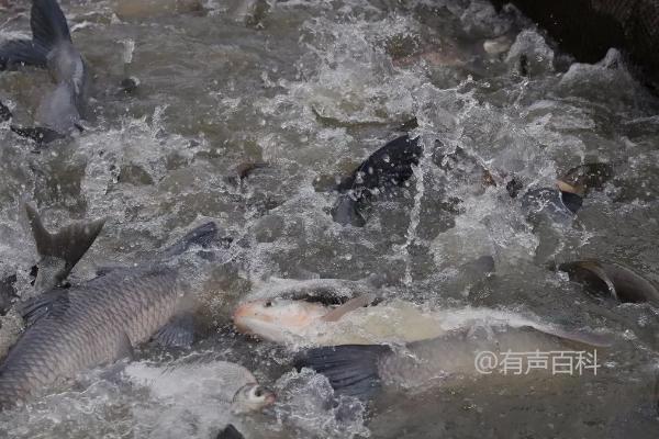
<path fill-rule="evenodd" d="M 471 306 L 427 309 L 398 299 L 365 307 L 375 299 L 372 294 L 362 294 L 339 306 L 304 300 L 259 300 L 239 305 L 233 320 L 239 333 L 294 348 L 407 344 L 478 326 L 529 327 L 565 339 L 600 341 L 596 335 L 570 331 L 503 309 Z"/>

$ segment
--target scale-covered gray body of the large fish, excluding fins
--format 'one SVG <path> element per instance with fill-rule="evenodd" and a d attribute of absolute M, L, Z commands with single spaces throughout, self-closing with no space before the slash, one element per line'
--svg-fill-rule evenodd
<path fill-rule="evenodd" d="M 25 399 L 60 378 L 114 361 L 146 341 L 177 309 L 178 272 L 119 270 L 63 292 L 9 352 L 0 369 L 0 407 Z"/>

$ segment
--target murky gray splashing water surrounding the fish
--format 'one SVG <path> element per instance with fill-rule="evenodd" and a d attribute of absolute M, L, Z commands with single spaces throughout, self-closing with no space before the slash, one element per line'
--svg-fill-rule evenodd
<path fill-rule="evenodd" d="M 29 36 L 24 3 L 0 10 L 0 38 Z M 213 219 L 235 240 L 191 280 L 208 327 L 193 349 L 246 365 L 279 402 L 248 417 L 203 398 L 168 410 L 118 364 L 1 414 L 0 436 L 209 438 L 232 421 L 255 438 L 657 437 L 659 311 L 593 297 L 546 269 L 596 257 L 659 282 L 659 101 L 617 53 L 578 64 L 515 11 L 496 14 L 480 0 L 179 4 L 172 13 L 153 2 L 141 12 L 63 1 L 94 74 L 94 117 L 78 137 L 38 154 L 0 126 L 1 274 L 18 272 L 21 295 L 32 293 L 36 254 L 22 200 L 53 227 L 108 217 L 74 283 L 97 266 L 143 260 Z M 483 42 L 500 35 L 514 44 L 488 55 Z M 129 76 L 139 80 L 133 93 L 120 90 Z M 44 71 L 3 72 L 0 100 L 15 123 L 30 125 L 51 87 Z M 371 206 L 366 227 L 334 223 L 336 194 L 316 191 L 317 180 L 349 172 L 412 117 L 426 151 L 438 138 L 525 187 L 550 187 L 591 161 L 611 164 L 615 178 L 573 223 L 534 226 L 502 184 L 483 190 L 426 154 L 406 188 Z M 269 166 L 236 184 L 234 168 L 246 161 Z M 458 269 L 483 255 L 494 258 L 494 275 Z M 332 403 L 322 376 L 292 371 L 290 352 L 231 328 L 233 306 L 270 277 L 377 278 L 389 294 L 421 304 L 532 313 L 608 333 L 615 344 L 596 376 L 465 379 L 386 392 L 368 408 Z M 16 320 L 10 313 L 0 323 L 7 349 Z M 147 346 L 138 360 L 178 354 Z"/>

